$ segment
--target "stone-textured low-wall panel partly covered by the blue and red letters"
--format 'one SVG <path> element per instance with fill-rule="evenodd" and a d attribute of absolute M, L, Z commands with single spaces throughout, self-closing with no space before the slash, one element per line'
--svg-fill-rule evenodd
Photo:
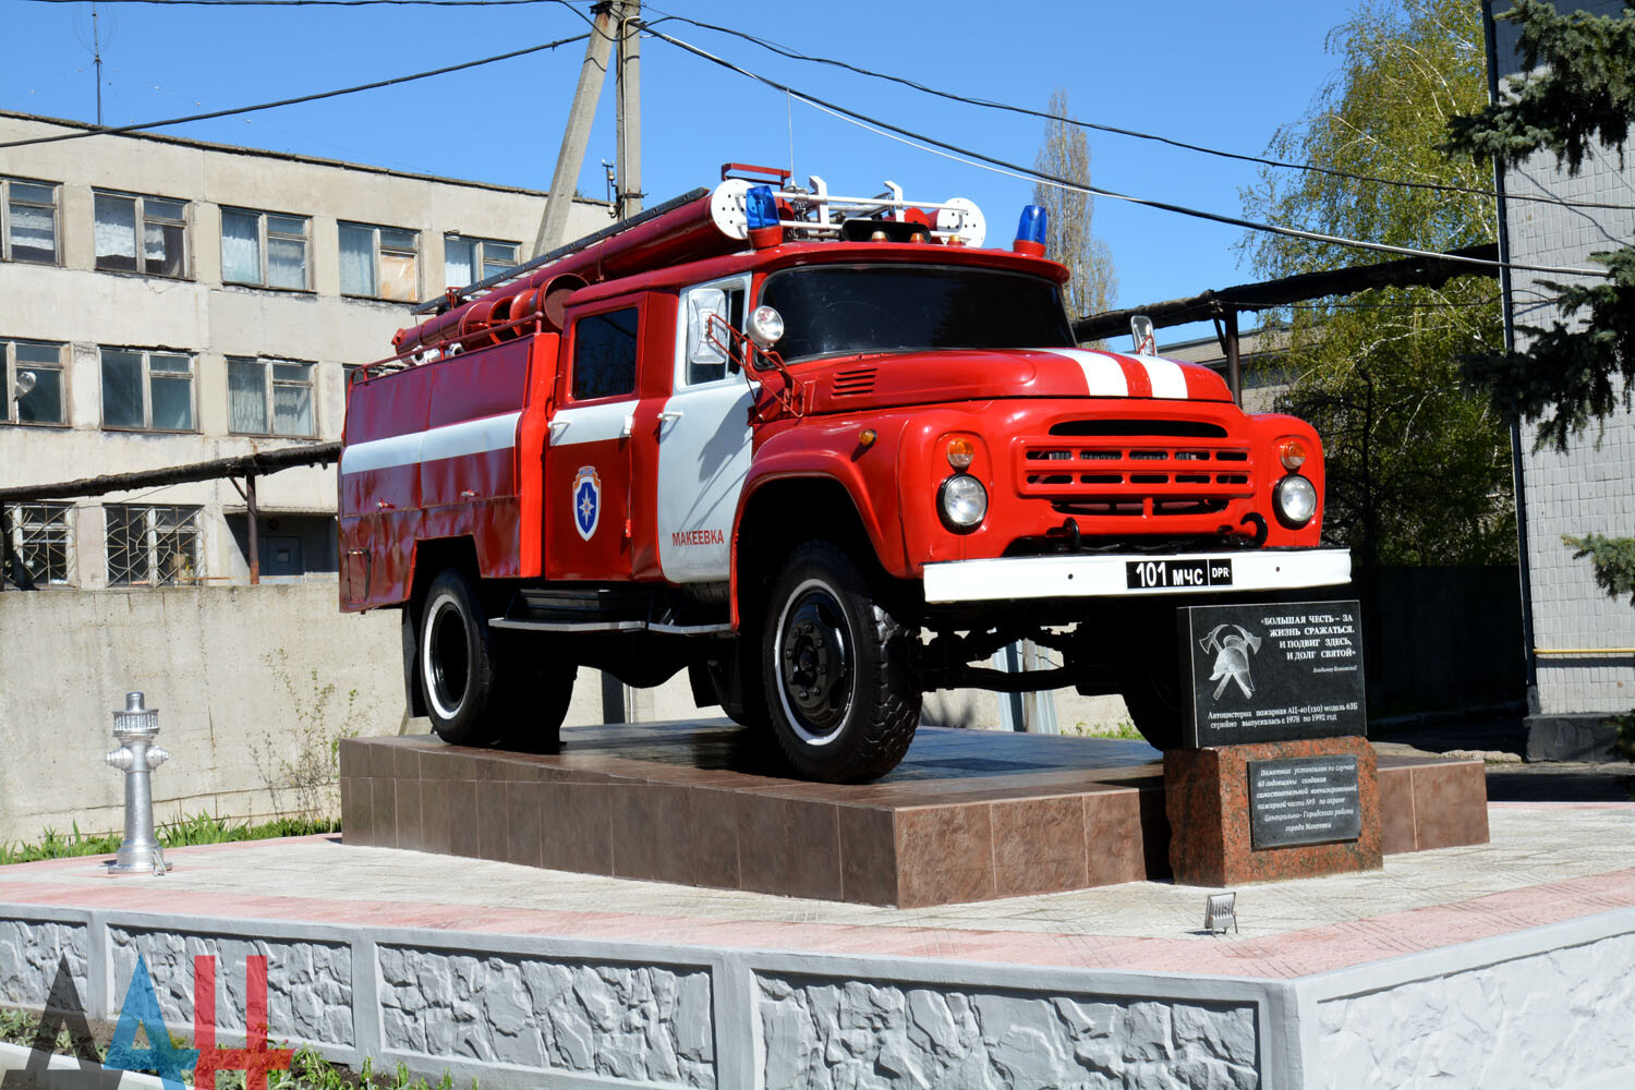
<path fill-rule="evenodd" d="M 186 931 L 108 928 L 113 951 L 114 1008 L 136 972 L 137 953 L 170 1025 L 193 1025 L 193 958 L 216 954 L 216 1025 L 224 1034 L 244 1033 L 245 959 L 267 958 L 267 1023 L 278 1039 L 352 1048 L 352 946 L 345 943 L 244 940 Z"/>

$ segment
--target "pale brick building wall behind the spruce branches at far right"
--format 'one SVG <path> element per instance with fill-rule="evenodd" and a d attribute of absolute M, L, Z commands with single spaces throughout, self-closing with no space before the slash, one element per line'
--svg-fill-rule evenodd
<path fill-rule="evenodd" d="M 1506 5 L 1499 5 L 1506 7 Z M 1579 7 L 1579 5 L 1575 5 Z M 1615 15 L 1620 5 L 1584 3 Z M 1498 70 L 1514 75 L 1514 36 L 1499 23 Z M 1635 242 L 1635 157 L 1620 165 L 1615 150 L 1597 149 L 1578 176 L 1558 168 L 1545 152 L 1506 170 L 1509 196 L 1553 196 L 1622 208 L 1568 208 L 1530 201 L 1506 203 L 1511 260 L 1527 265 L 1592 268 L 1591 255 Z M 1517 324 L 1516 346 L 1532 337 L 1525 325 L 1550 327 L 1557 293 L 1540 281 L 1575 283 L 1581 276 L 1512 273 L 1509 306 Z M 1537 655 L 1537 711 L 1543 716 L 1619 713 L 1635 706 L 1635 654 L 1602 649 L 1635 647 L 1635 610 L 1596 587 L 1588 559 L 1573 559 L 1561 536 L 1635 534 L 1635 417 L 1615 412 L 1558 453 L 1537 451 L 1537 430 L 1522 428 L 1522 489 L 1527 518 L 1527 562 L 1532 580 L 1534 647 L 1589 654 Z"/>

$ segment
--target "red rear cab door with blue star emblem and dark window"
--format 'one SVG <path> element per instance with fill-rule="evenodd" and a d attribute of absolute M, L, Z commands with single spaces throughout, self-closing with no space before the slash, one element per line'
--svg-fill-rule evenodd
<path fill-rule="evenodd" d="M 544 574 L 631 577 L 631 430 L 644 302 L 620 299 L 571 315 L 567 368 L 544 458 Z"/>

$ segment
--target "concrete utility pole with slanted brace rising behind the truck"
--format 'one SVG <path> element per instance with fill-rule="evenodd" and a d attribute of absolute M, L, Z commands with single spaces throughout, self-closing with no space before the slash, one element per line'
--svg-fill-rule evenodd
<path fill-rule="evenodd" d="M 602 98 L 602 80 L 607 75 L 615 41 L 618 42 L 620 176 L 613 193 L 613 211 L 620 217 L 641 211 L 641 52 L 639 31 L 636 29 L 641 0 L 602 0 L 592 11 L 595 23 L 590 29 L 590 41 L 585 42 L 585 62 L 579 67 L 574 103 L 567 108 L 567 129 L 562 132 L 562 149 L 556 155 L 556 172 L 551 175 L 551 194 L 544 203 L 544 216 L 540 217 L 540 230 L 533 239 L 533 257 L 566 242 L 567 211 L 574 206 L 574 183 L 585 162 L 590 123 L 595 119 L 597 100 Z M 631 199 L 634 199 L 634 208 L 629 204 Z"/>

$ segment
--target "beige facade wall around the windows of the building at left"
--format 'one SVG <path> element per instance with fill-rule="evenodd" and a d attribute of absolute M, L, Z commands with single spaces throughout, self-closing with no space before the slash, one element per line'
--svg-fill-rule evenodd
<path fill-rule="evenodd" d="M 74 127 L 80 126 L 0 113 L 0 141 Z M 316 438 L 338 438 L 343 364 L 391 355 L 392 333 L 412 320 L 407 304 L 340 294 L 338 224 L 419 232 L 415 296 L 425 299 L 445 288 L 445 234 L 522 242 L 526 253 L 544 209 L 544 194 L 538 191 L 152 136 L 96 136 L 7 149 L 0 175 L 59 183 L 60 257 L 59 266 L 0 261 L 0 297 L 7 301 L 0 309 L 0 340 L 69 346 L 67 427 L 0 425 L 5 485 L 157 469 L 298 443 L 229 433 L 227 356 L 314 363 Z M 96 271 L 95 190 L 188 201 L 190 276 Z M 224 206 L 311 217 L 311 291 L 224 284 Z M 579 201 L 569 214 L 569 237 L 608 222 L 603 204 Z M 103 428 L 100 346 L 191 355 L 198 430 Z M 77 585 L 106 585 L 101 507 L 126 498 L 134 502 L 110 495 L 75 503 Z M 334 515 L 335 471 L 293 469 L 265 477 L 257 498 L 263 520 L 280 511 Z M 224 511 L 244 511 L 244 500 L 229 482 L 144 490 L 141 502 L 201 505 L 203 575 L 231 582 L 249 577 L 244 551 L 222 521 Z"/>

